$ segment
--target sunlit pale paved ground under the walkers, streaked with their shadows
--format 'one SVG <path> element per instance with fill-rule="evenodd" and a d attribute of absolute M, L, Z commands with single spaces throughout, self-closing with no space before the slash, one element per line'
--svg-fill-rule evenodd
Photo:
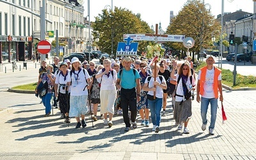
<path fill-rule="evenodd" d="M 6 106 L 9 113 L 0 113 L 0 159 L 255 159 L 255 95 L 256 91 L 224 90 L 228 120 L 221 124 L 218 109 L 215 135 L 209 136 L 201 129 L 200 104 L 195 100 L 190 134 L 177 131 L 171 99 L 156 134 L 152 124 L 140 126 L 140 116 L 138 128 L 129 132 L 124 132 L 122 116 L 115 116 L 109 128 L 102 120 L 92 127 L 90 115 L 86 115 L 87 127 L 75 129 L 74 118 L 68 127 L 58 109 L 45 118 L 44 106 L 35 95 L 20 100 L 19 93 L 8 93 L 15 105 Z"/>

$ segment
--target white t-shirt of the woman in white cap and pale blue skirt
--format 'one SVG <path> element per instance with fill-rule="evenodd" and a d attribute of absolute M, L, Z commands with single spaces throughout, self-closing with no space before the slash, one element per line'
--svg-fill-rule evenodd
<path fill-rule="evenodd" d="M 72 72 L 72 70 L 70 72 Z M 71 77 L 70 77 L 70 74 L 68 74 L 67 81 L 70 82 L 72 80 L 72 84 L 70 86 L 71 88 L 70 95 L 88 95 L 88 92 L 87 92 L 88 83 L 86 82 L 86 79 L 88 78 L 90 78 L 90 76 L 87 70 L 83 68 L 80 71 L 76 70 L 75 72 L 72 72 Z"/>

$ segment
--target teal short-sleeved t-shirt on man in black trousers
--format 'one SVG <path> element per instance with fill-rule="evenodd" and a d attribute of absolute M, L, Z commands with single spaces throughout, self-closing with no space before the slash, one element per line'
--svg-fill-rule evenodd
<path fill-rule="evenodd" d="M 120 75 L 120 71 L 118 72 L 117 78 L 121 80 L 122 88 L 132 89 L 136 87 L 136 79 L 140 79 L 140 74 L 138 70 L 135 70 L 135 77 L 134 77 L 133 70 L 134 70 L 133 68 L 131 68 L 130 70 L 125 70 L 125 68 L 123 68 L 121 75 Z"/>

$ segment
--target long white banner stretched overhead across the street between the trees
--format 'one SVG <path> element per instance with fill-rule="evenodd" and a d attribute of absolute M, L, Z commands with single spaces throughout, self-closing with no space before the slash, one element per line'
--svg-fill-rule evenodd
<path fill-rule="evenodd" d="M 183 42 L 185 35 L 167 35 L 167 37 L 146 36 L 145 34 L 125 34 L 124 35 L 124 39 L 129 37 L 132 38 L 133 40 L 147 40 L 147 41 L 157 41 L 157 42 Z"/>

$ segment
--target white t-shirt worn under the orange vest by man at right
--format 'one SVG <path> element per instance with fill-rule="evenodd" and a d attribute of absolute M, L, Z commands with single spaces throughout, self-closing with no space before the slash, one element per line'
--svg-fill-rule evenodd
<path fill-rule="evenodd" d="M 198 73 L 198 81 L 200 80 L 201 77 L 201 70 L 199 70 Z M 218 81 L 221 80 L 221 74 L 218 76 Z M 205 83 L 204 83 L 204 95 L 202 97 L 207 98 L 207 99 L 212 99 L 215 97 L 214 92 L 213 92 L 213 81 L 214 81 L 214 67 L 212 70 L 206 70 L 206 75 L 205 75 Z"/>

